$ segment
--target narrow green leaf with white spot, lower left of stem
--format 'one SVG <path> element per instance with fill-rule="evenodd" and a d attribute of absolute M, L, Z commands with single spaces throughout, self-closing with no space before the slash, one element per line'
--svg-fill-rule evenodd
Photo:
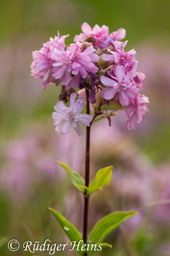
<path fill-rule="evenodd" d="M 59 212 L 53 210 L 52 208 L 48 209 L 52 212 L 53 216 L 55 216 L 56 220 L 60 224 L 60 227 L 62 227 L 67 237 L 69 237 L 70 241 L 76 241 L 76 244 L 78 244 L 78 242 L 82 240 L 82 242 L 80 243 L 81 247 L 83 244 L 83 239 L 80 232 L 76 229 L 76 227 L 74 227 L 72 223 L 67 221 L 66 218 L 64 218 Z M 78 253 L 82 254 L 81 251 Z"/>

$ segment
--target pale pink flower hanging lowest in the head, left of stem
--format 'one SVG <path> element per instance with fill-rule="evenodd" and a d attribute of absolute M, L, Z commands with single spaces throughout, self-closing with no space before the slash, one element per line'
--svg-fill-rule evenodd
<path fill-rule="evenodd" d="M 53 124 L 56 126 L 55 131 L 66 135 L 71 125 L 78 133 L 78 136 L 82 135 L 80 124 L 89 126 L 92 121 L 92 116 L 87 114 L 81 114 L 84 108 L 83 102 L 85 99 L 79 98 L 76 100 L 78 93 L 71 93 L 70 107 L 66 107 L 61 100 L 54 106 L 56 112 L 52 113 Z M 79 124 L 80 123 L 80 124 Z"/>

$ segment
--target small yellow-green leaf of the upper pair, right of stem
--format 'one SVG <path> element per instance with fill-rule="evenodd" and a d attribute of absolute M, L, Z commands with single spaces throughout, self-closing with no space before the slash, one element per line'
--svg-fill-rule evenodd
<path fill-rule="evenodd" d="M 110 184 L 112 169 L 113 169 L 113 166 L 108 166 L 106 168 L 99 170 L 96 173 L 94 180 L 89 185 L 87 195 L 92 195 L 98 189 L 101 189 L 102 187 Z"/>

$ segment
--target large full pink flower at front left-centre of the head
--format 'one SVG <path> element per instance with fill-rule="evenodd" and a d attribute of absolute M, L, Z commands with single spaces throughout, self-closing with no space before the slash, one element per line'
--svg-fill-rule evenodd
<path fill-rule="evenodd" d="M 90 46 L 81 51 L 81 43 L 71 44 L 66 51 L 54 49 L 52 53 L 53 77 L 61 79 L 63 85 L 71 86 L 75 89 L 80 84 L 80 79 L 87 77 L 87 72 L 96 73 L 98 68 L 93 62 L 99 61 L 99 56 L 93 53 L 94 47 Z M 72 78 L 71 75 L 74 75 Z"/>

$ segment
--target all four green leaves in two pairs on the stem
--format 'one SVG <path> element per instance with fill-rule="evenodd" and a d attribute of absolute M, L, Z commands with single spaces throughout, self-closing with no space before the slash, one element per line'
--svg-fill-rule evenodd
<path fill-rule="evenodd" d="M 64 164 L 60 161 L 57 161 L 60 166 L 66 170 L 67 174 L 69 175 L 69 179 L 71 180 L 71 183 L 83 194 L 85 194 L 85 191 L 87 191 L 87 195 L 90 196 L 93 193 L 95 193 L 97 190 L 103 190 L 102 188 L 104 186 L 107 186 L 110 184 L 111 180 L 111 171 L 113 169 L 113 166 L 108 166 L 106 168 L 103 168 L 99 170 L 96 173 L 96 176 L 94 177 L 94 180 L 87 188 L 85 186 L 85 180 L 81 177 L 81 175 L 77 172 L 74 172 L 71 170 L 67 164 Z M 59 222 L 60 227 L 64 230 L 67 237 L 69 237 L 70 241 L 75 241 L 76 244 L 78 244 L 80 241 L 80 248 L 84 244 L 82 236 L 80 232 L 74 227 L 72 223 L 70 223 L 64 216 L 62 216 L 59 212 L 49 208 L 50 211 L 52 211 L 53 216 L 55 216 L 56 220 Z M 111 232 L 113 232 L 123 221 L 127 220 L 131 216 L 134 216 L 138 212 L 136 211 L 118 211 L 118 212 L 112 212 L 111 214 L 106 215 L 104 218 L 99 220 L 94 228 L 92 228 L 92 231 L 89 234 L 89 237 L 87 241 L 90 244 L 96 244 L 98 246 L 101 244 L 102 248 L 104 247 L 110 247 L 111 244 L 103 243 L 103 240 L 106 236 L 108 236 Z M 77 251 L 80 255 L 85 253 L 86 251 Z M 89 251 L 89 253 L 92 251 Z"/>

